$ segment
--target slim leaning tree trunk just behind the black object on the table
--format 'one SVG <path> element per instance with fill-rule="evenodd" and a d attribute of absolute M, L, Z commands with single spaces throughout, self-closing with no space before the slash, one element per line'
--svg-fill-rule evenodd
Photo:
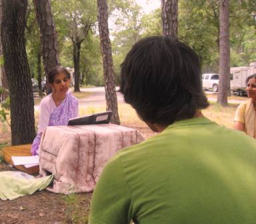
<path fill-rule="evenodd" d="M 111 43 L 109 39 L 109 27 L 107 23 L 107 0 L 97 0 L 97 6 L 99 37 L 101 39 L 101 54 L 103 57 L 103 73 L 105 81 L 105 98 L 107 103 L 107 111 L 113 111 L 111 123 L 119 125 L 120 121 L 117 108 L 117 93 L 115 92 L 113 58 Z"/>

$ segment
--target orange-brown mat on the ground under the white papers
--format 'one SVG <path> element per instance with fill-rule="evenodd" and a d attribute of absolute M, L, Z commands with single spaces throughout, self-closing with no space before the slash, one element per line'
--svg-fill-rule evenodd
<path fill-rule="evenodd" d="M 2 150 L 3 159 L 5 159 L 6 163 L 14 166 L 13 161 L 11 160 L 11 157 L 12 156 L 29 156 L 31 155 L 30 149 L 31 149 L 31 144 L 3 147 L 3 150 Z M 29 174 L 39 173 L 39 165 L 31 168 L 26 168 L 23 165 L 15 165 L 14 167 Z"/>

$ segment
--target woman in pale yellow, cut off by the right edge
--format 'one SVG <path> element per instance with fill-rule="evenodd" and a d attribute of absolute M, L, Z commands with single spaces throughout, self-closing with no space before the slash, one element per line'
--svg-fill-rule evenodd
<path fill-rule="evenodd" d="M 246 84 L 246 92 L 250 99 L 237 107 L 235 129 L 245 131 L 247 135 L 256 138 L 256 74 L 247 77 Z"/>

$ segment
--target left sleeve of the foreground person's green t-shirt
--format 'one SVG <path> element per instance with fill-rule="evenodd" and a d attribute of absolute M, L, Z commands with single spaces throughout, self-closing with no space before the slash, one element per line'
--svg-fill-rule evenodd
<path fill-rule="evenodd" d="M 116 155 L 103 169 L 91 202 L 89 224 L 129 224 L 131 193 Z"/>

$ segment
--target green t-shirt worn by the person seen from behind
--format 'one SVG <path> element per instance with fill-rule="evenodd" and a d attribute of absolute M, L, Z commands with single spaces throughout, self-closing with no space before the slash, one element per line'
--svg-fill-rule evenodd
<path fill-rule="evenodd" d="M 109 161 L 90 224 L 255 224 L 256 142 L 206 118 L 177 121 Z"/>

